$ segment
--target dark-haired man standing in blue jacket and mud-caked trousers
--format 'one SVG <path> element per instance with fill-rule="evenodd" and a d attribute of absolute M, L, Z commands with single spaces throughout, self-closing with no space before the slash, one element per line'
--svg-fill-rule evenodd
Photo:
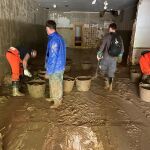
<path fill-rule="evenodd" d="M 63 99 L 63 74 L 66 65 L 66 45 L 61 35 L 56 31 L 56 23 L 53 20 L 46 22 L 48 34 L 47 51 L 45 57 L 46 75 L 49 78 L 50 98 L 54 101 L 51 108 L 57 108 Z"/>

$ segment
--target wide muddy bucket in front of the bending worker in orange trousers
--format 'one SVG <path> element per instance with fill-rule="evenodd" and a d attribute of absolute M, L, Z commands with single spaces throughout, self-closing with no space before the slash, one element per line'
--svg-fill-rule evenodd
<path fill-rule="evenodd" d="M 33 98 L 45 97 L 45 81 L 44 80 L 32 80 L 27 83 L 28 91 Z"/>

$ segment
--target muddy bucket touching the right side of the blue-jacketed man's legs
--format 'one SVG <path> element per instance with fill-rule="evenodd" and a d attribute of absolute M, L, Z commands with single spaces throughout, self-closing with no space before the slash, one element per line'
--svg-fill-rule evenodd
<path fill-rule="evenodd" d="M 64 93 L 70 93 L 73 90 L 75 79 L 72 77 L 64 77 Z"/>

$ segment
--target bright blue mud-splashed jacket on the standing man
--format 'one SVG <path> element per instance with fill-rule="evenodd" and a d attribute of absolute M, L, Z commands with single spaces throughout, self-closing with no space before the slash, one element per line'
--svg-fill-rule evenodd
<path fill-rule="evenodd" d="M 57 32 L 48 35 L 48 44 L 45 58 L 45 68 L 48 75 L 65 70 L 66 45 Z"/>

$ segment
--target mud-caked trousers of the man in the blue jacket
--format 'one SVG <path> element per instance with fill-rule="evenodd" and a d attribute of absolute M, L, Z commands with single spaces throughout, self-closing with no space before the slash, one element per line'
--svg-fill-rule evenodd
<path fill-rule="evenodd" d="M 54 102 L 63 98 L 63 74 L 64 71 L 49 75 L 50 99 Z"/>

